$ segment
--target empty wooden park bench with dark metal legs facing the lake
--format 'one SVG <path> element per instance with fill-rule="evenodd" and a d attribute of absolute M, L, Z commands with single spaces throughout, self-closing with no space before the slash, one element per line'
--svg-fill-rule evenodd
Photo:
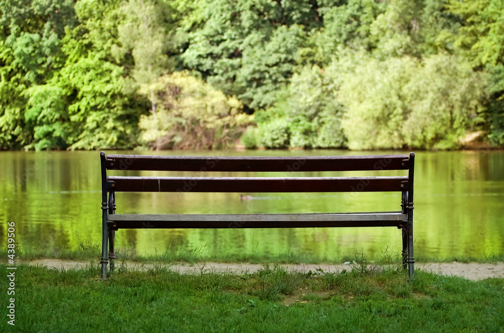
<path fill-rule="evenodd" d="M 413 277 L 415 154 L 370 156 L 152 156 L 100 153 L 102 179 L 101 278 L 114 269 L 115 231 L 132 228 L 397 227 L 402 264 Z M 107 171 L 280 172 L 287 177 L 125 177 Z M 406 176 L 293 177 L 298 172 L 404 170 Z M 206 174 L 205 174 L 206 175 Z M 205 176 L 203 175 L 203 176 Z M 401 209 L 386 212 L 284 214 L 116 214 L 116 192 L 401 192 Z M 351 197 L 351 195 L 349 196 Z M 398 200 L 399 208 L 399 200 Z"/>

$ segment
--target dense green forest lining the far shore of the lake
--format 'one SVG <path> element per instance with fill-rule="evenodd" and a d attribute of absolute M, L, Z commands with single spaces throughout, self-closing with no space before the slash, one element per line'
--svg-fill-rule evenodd
<path fill-rule="evenodd" d="M 0 0 L 0 149 L 504 146 L 502 0 Z"/>

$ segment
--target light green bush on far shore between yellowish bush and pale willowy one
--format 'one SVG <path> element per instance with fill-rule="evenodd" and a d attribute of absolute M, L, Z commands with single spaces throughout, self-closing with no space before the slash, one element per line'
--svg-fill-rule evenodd
<path fill-rule="evenodd" d="M 259 143 L 268 148 L 343 147 L 338 82 L 336 71 L 304 67 L 279 93 L 277 104 L 267 111 L 270 116 L 256 117 L 261 137 L 266 136 Z"/>

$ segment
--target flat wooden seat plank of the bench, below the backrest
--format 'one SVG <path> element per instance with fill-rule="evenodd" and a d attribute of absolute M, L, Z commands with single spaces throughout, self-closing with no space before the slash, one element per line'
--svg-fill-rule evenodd
<path fill-rule="evenodd" d="M 397 227 L 407 221 L 400 211 L 302 214 L 111 214 L 114 229 L 139 228 L 316 228 Z"/>

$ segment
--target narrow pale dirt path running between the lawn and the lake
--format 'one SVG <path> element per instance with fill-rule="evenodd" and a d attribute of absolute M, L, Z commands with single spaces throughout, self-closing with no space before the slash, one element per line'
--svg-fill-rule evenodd
<path fill-rule="evenodd" d="M 31 265 L 41 265 L 50 268 L 83 268 L 89 265 L 89 262 L 85 261 L 71 261 L 71 260 L 60 260 L 60 259 L 39 259 L 33 261 L 27 261 L 26 263 Z M 116 262 L 116 267 L 121 265 L 121 261 Z M 126 262 L 128 269 L 133 270 L 147 270 L 152 269 L 155 264 L 153 263 L 139 263 L 134 261 Z M 230 271 L 234 273 L 243 272 L 255 272 L 258 269 L 264 267 L 264 264 L 251 264 L 251 263 L 218 263 L 218 262 L 206 262 L 206 263 L 174 263 L 174 264 L 158 264 L 169 267 L 171 270 L 178 271 L 181 273 L 185 272 L 213 272 L 213 271 Z M 296 271 L 316 271 L 318 268 L 324 271 L 339 272 L 343 269 L 351 269 L 351 265 L 328 265 L 328 264 L 281 264 L 280 266 L 285 267 L 287 270 Z M 456 275 L 463 276 L 468 280 L 483 280 L 488 278 L 504 278 L 504 262 L 499 263 L 462 263 L 462 262 L 450 262 L 450 263 L 416 263 L 415 268 L 420 268 L 434 273 L 442 273 L 445 275 Z"/>

